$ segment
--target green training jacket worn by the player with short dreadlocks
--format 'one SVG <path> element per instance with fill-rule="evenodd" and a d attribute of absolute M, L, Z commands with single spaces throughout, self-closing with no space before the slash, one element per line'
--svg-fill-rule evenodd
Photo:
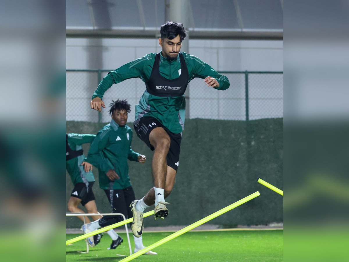
<path fill-rule="evenodd" d="M 132 129 L 127 125 L 119 126 L 113 119 L 97 133 L 85 161 L 98 168 L 101 189 L 131 187 L 127 159 L 138 161 L 140 155 L 132 150 L 131 141 Z M 106 176 L 110 169 L 114 170 L 120 179 L 111 181 Z"/>

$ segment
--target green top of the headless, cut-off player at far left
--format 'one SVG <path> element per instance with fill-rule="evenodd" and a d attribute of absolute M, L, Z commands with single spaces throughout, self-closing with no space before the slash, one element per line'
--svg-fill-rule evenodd
<path fill-rule="evenodd" d="M 72 150 L 80 150 L 82 149 L 82 144 L 92 143 L 95 139 L 95 134 L 68 134 L 68 144 Z M 77 183 L 85 183 L 86 187 L 88 187 L 88 182 L 95 181 L 95 177 L 92 174 L 92 171 L 85 172 L 81 163 L 83 162 L 85 156 L 79 155 L 79 157 L 70 159 L 66 161 L 66 169 L 72 179 L 74 186 Z"/>

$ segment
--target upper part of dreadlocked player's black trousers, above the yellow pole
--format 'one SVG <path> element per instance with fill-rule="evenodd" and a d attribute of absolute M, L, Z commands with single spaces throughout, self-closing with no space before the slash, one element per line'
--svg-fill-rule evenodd
<path fill-rule="evenodd" d="M 104 190 L 113 213 L 124 214 L 126 218 L 133 217 L 130 205 L 136 199 L 132 187 L 124 189 Z"/>

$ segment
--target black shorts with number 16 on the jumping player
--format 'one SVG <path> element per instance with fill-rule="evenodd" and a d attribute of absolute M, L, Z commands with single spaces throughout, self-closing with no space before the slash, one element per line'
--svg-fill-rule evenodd
<path fill-rule="evenodd" d="M 170 130 L 168 130 L 163 124 L 161 124 L 160 121 L 158 121 L 154 117 L 142 117 L 138 120 L 135 121 L 137 122 L 138 126 L 133 124 L 134 130 L 136 131 L 137 136 L 147 144 L 147 146 L 154 151 L 154 147 L 150 145 L 149 142 L 149 134 L 154 128 L 161 127 L 163 128 L 166 133 L 169 135 L 171 139 L 171 144 L 170 144 L 170 150 L 167 153 L 166 160 L 167 160 L 167 165 L 169 167 L 172 167 L 174 170 L 178 170 L 178 165 L 179 165 L 179 153 L 180 153 L 180 142 L 182 140 L 182 135 L 181 134 L 175 134 L 172 133 Z M 134 123 L 135 123 L 134 122 Z"/>

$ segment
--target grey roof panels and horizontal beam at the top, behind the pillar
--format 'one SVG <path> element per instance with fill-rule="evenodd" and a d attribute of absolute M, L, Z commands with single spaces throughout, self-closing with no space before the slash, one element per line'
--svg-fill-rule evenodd
<path fill-rule="evenodd" d="M 67 0 L 67 37 L 158 37 L 168 0 Z M 192 39 L 283 39 L 283 0 L 187 0 Z"/>

